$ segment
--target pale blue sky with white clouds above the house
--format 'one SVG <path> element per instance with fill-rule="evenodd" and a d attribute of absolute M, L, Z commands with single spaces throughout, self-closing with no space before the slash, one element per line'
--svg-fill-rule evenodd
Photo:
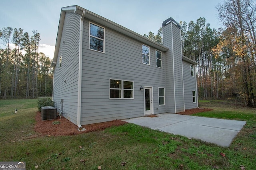
<path fill-rule="evenodd" d="M 60 11 L 62 7 L 78 5 L 140 35 L 157 33 L 162 22 L 170 17 L 195 21 L 200 17 L 210 27 L 222 27 L 216 6 L 223 0 L 1 0 L 0 29 L 22 28 L 32 36 L 40 33 L 39 52 L 53 58 Z M 0 41 L 0 47 L 5 48 Z"/>

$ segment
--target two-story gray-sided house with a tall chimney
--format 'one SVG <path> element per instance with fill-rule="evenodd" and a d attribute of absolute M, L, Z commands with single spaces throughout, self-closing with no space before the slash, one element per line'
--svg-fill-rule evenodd
<path fill-rule="evenodd" d="M 195 61 L 182 56 L 180 25 L 160 45 L 80 6 L 61 10 L 53 100 L 81 125 L 198 107 Z"/>

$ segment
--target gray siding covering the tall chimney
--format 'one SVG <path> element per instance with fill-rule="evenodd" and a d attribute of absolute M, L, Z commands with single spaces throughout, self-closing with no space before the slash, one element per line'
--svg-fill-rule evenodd
<path fill-rule="evenodd" d="M 184 111 L 180 29 L 173 23 L 164 26 L 163 41 L 164 46 L 169 48 L 166 52 L 166 64 L 168 65 L 166 68 L 167 111 L 178 113 Z"/>

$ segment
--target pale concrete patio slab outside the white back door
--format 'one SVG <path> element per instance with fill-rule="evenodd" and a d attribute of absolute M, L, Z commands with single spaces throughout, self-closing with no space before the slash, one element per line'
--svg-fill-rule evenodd
<path fill-rule="evenodd" d="M 158 114 L 157 117 L 123 119 L 143 127 L 157 129 L 174 135 L 200 139 L 222 147 L 229 147 L 246 121 L 216 119 L 173 113 Z"/>

